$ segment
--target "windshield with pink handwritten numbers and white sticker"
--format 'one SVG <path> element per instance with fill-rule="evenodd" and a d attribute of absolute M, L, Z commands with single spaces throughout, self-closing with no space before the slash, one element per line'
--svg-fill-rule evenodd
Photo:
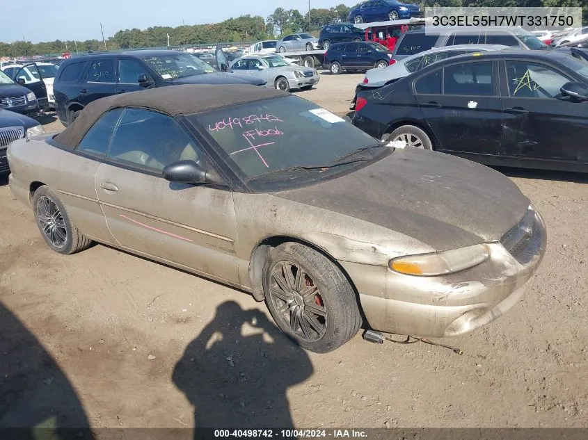
<path fill-rule="evenodd" d="M 264 99 L 188 118 L 204 127 L 247 180 L 269 173 L 277 179 L 278 170 L 324 166 L 357 149 L 380 146 L 349 122 L 299 97 Z"/>

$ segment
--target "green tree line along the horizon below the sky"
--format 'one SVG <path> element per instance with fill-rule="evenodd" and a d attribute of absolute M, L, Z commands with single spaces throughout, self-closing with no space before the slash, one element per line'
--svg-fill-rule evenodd
<path fill-rule="evenodd" d="M 406 0 L 407 3 L 411 0 Z M 588 19 L 588 0 L 413 0 L 420 6 L 581 6 L 582 19 Z M 301 13 L 297 9 L 276 8 L 267 18 L 259 15 L 243 15 L 221 23 L 196 24 L 193 26 L 154 26 L 147 29 L 120 30 L 106 40 L 106 49 L 135 49 L 138 47 L 207 44 L 214 42 L 250 42 L 280 38 L 289 33 L 317 32 L 327 24 L 345 22 L 351 8 L 344 4 L 326 9 L 311 9 Z M 61 54 L 65 51 L 87 52 L 104 50 L 100 40 L 39 42 L 0 42 L 0 56 L 34 56 Z"/>

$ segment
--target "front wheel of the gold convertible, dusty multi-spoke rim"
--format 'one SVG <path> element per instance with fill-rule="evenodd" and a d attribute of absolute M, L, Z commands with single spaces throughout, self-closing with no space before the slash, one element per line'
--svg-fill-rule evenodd
<path fill-rule="evenodd" d="M 358 332 L 353 288 L 331 260 L 310 247 L 283 243 L 271 250 L 263 283 L 273 320 L 302 348 L 330 352 Z"/>

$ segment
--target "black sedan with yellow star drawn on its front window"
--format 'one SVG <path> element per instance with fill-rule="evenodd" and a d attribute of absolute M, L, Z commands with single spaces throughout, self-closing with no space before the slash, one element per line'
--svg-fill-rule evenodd
<path fill-rule="evenodd" d="M 570 51 L 456 56 L 358 95 L 376 138 L 487 165 L 588 171 L 588 62 Z"/>

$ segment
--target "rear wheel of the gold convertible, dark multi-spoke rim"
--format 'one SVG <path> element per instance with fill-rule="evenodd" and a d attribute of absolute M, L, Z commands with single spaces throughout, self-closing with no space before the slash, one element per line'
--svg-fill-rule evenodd
<path fill-rule="evenodd" d="M 41 186 L 33 196 L 35 222 L 45 243 L 60 254 L 74 254 L 92 244 L 77 229 L 61 199 L 48 186 Z"/>

